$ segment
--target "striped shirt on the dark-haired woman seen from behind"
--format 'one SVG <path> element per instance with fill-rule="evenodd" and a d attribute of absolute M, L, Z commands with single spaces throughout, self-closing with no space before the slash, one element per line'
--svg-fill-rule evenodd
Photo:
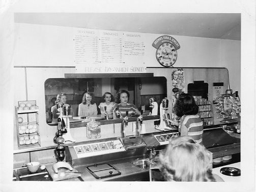
<path fill-rule="evenodd" d="M 197 114 L 184 115 L 180 122 L 188 129 L 188 136 L 192 137 L 198 143 L 203 142 L 203 121 Z"/>

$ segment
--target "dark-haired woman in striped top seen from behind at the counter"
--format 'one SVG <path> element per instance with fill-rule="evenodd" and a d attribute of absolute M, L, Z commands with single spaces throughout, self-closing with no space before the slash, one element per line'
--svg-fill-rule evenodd
<path fill-rule="evenodd" d="M 194 98 L 186 93 L 181 93 L 174 105 L 174 113 L 180 118 L 180 122 L 168 120 L 170 123 L 179 126 L 181 136 L 190 136 L 196 142 L 203 142 L 203 121 L 198 113 L 198 106 Z"/>

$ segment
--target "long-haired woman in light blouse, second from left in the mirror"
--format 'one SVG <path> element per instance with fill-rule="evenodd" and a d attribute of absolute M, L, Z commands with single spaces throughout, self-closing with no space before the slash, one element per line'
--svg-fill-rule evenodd
<path fill-rule="evenodd" d="M 93 94 L 91 92 L 85 92 L 82 95 L 82 102 L 78 105 L 78 116 L 88 117 L 98 114 L 97 105 L 92 100 Z"/>

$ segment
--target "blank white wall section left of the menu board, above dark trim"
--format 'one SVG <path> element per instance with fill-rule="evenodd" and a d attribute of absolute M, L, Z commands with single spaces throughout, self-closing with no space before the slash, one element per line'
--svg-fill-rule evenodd
<path fill-rule="evenodd" d="M 14 65 L 72 66 L 71 27 L 16 23 Z"/>

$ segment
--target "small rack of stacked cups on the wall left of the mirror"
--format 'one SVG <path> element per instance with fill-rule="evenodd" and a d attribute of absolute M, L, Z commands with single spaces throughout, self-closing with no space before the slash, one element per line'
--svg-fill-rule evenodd
<path fill-rule="evenodd" d="M 18 148 L 30 148 L 40 146 L 39 108 L 35 100 L 18 101 L 15 106 L 17 142 Z"/>

